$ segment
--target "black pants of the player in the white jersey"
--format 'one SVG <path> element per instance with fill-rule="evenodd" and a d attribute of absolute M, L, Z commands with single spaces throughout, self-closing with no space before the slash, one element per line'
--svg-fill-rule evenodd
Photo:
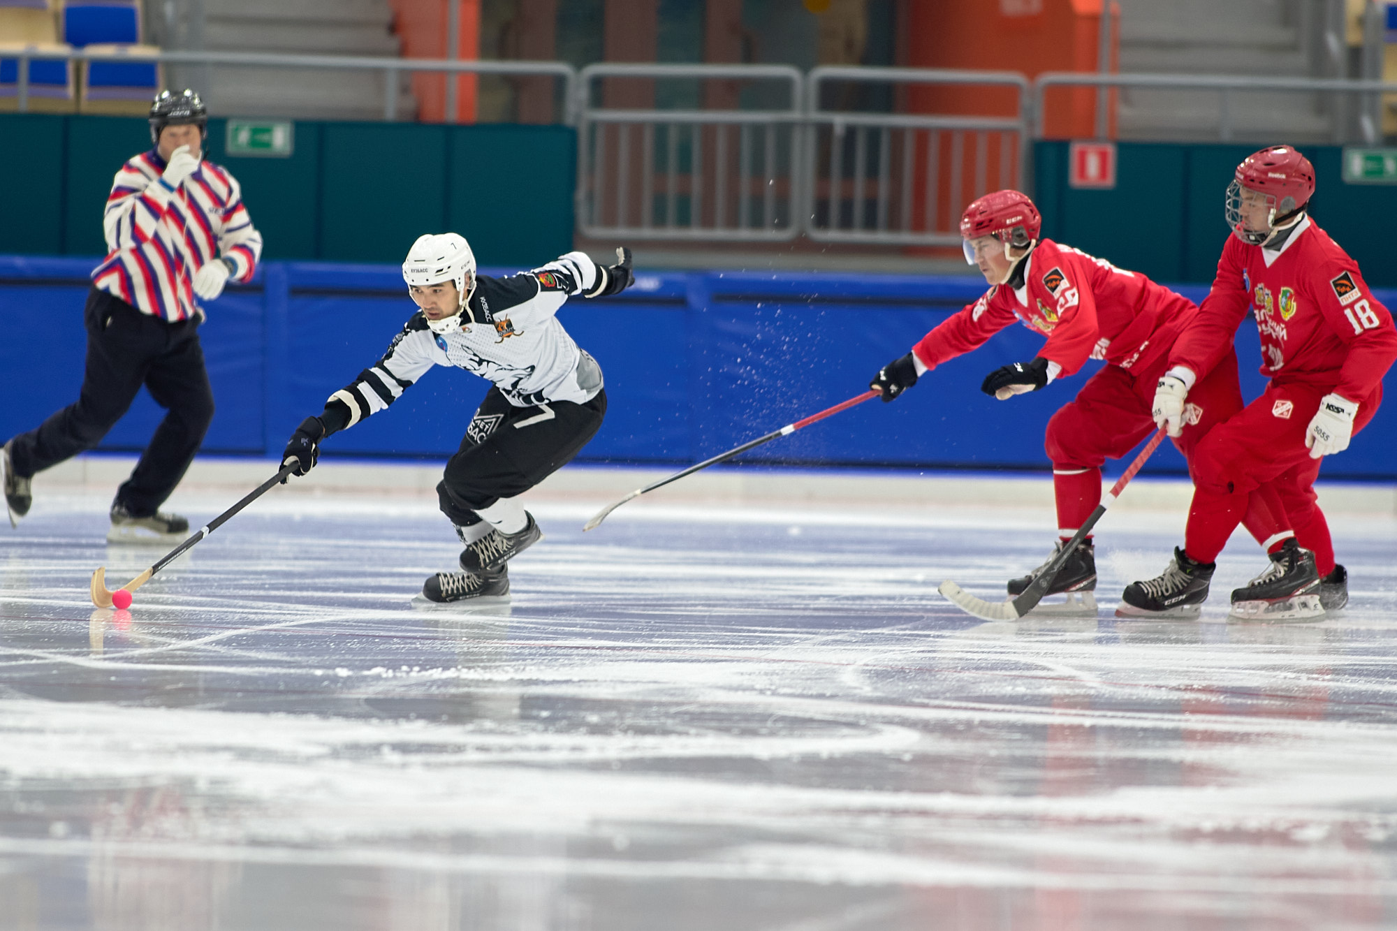
<path fill-rule="evenodd" d="M 514 407 L 492 387 L 437 484 L 441 513 L 458 527 L 479 523 L 476 507 L 514 498 L 566 466 L 601 429 L 606 391 L 585 404 Z"/>

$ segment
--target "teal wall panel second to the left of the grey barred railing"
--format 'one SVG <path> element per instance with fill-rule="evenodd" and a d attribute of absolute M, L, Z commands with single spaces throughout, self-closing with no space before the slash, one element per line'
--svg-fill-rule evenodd
<path fill-rule="evenodd" d="M 444 126 L 327 123 L 320 257 L 402 261 L 422 233 L 446 232 Z"/>

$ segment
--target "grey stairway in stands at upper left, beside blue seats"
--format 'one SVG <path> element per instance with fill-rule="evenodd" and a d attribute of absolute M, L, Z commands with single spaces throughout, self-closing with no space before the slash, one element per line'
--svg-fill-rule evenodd
<path fill-rule="evenodd" d="M 397 56 L 391 27 L 388 0 L 204 0 L 203 45 L 219 52 Z M 190 48 L 166 48 L 180 45 Z M 381 120 L 384 113 L 381 71 L 214 66 L 180 68 L 175 77 L 203 85 L 218 116 Z M 416 103 L 405 74 L 395 92 L 398 119 L 412 119 Z"/>

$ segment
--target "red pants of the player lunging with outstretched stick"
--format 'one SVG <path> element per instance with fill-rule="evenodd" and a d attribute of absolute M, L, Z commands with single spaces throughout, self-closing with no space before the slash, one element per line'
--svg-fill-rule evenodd
<path fill-rule="evenodd" d="M 1155 431 L 1150 410 L 1166 365 L 1166 361 L 1161 361 L 1141 372 L 1106 365 L 1087 379 L 1076 400 L 1065 404 L 1048 421 L 1044 446 L 1053 464 L 1058 533 L 1063 538 L 1071 537 L 1101 503 L 1102 463 L 1126 456 Z M 1187 460 L 1190 474 L 1203 438 L 1241 410 L 1236 354 L 1228 352 L 1193 386 L 1186 400 L 1183 431 L 1173 445 Z M 1263 547 L 1287 535 L 1287 521 L 1271 489 L 1263 488 L 1250 509 L 1246 502 L 1248 498 L 1243 496 L 1239 520 Z M 1236 527 L 1236 523 L 1232 526 Z"/>

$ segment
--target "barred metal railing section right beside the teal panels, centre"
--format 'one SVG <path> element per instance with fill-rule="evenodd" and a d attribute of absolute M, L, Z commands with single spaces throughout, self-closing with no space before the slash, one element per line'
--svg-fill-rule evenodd
<path fill-rule="evenodd" d="M 654 81 L 697 81 L 715 109 L 594 105 L 654 99 Z M 803 75 L 789 66 L 592 64 L 578 80 L 577 225 L 588 236 L 782 240 L 800 233 Z M 788 106 L 738 109 L 740 81 Z M 714 85 L 714 82 L 721 82 Z M 624 91 L 630 94 L 624 94 Z M 630 102 L 630 101 L 626 101 Z"/>

